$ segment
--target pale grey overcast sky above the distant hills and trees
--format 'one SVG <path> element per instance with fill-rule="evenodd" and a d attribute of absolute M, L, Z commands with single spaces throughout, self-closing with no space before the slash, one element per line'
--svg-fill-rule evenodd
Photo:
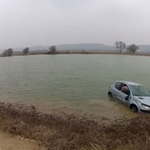
<path fill-rule="evenodd" d="M 0 0 L 0 48 L 150 44 L 149 0 Z"/>

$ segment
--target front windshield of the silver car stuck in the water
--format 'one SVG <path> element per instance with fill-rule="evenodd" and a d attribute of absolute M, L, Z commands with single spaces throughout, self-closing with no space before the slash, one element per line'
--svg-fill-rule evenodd
<path fill-rule="evenodd" d="M 150 96 L 150 91 L 148 91 L 144 86 L 130 85 L 130 88 L 134 96 Z"/>

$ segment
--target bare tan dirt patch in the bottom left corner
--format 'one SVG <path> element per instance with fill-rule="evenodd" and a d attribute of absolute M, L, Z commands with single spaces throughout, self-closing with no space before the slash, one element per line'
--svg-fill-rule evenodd
<path fill-rule="evenodd" d="M 0 131 L 0 150 L 46 150 L 34 141 L 12 136 Z"/>

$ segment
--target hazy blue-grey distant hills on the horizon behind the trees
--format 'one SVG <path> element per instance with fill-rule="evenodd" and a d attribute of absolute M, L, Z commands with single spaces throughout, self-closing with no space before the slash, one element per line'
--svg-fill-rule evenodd
<path fill-rule="evenodd" d="M 48 51 L 50 46 L 31 46 L 30 51 Z M 117 51 L 115 46 L 100 43 L 61 44 L 56 45 L 58 51 Z M 139 45 L 138 52 L 150 53 L 150 45 Z M 22 51 L 24 48 L 13 48 L 14 51 Z M 2 50 L 3 51 L 3 50 Z"/>

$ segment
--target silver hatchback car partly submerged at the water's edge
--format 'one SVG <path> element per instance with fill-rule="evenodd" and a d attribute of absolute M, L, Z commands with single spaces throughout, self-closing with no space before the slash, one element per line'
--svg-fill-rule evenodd
<path fill-rule="evenodd" d="M 108 95 L 126 103 L 133 112 L 150 113 L 150 91 L 141 84 L 116 81 L 109 87 Z"/>

